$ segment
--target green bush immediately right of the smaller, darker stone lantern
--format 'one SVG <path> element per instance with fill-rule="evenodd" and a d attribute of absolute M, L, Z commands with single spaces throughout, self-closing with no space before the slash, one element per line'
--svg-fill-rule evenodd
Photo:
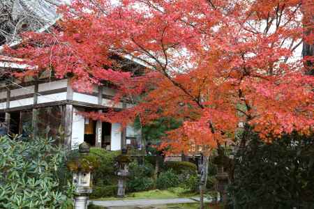
<path fill-rule="evenodd" d="M 129 164 L 130 177 L 127 180 L 126 190 L 128 192 L 140 192 L 152 189 L 154 180 L 151 176 L 154 174 L 153 165 L 148 162 L 140 165 L 136 161 Z"/>

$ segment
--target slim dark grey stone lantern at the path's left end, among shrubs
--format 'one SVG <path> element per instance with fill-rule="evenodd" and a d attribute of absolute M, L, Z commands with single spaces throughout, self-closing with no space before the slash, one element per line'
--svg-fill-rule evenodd
<path fill-rule="evenodd" d="M 126 178 L 129 176 L 128 164 L 130 163 L 130 156 L 128 155 L 128 150 L 123 148 L 121 150 L 121 155 L 117 157 L 118 162 L 118 197 L 124 197 L 126 194 Z"/>

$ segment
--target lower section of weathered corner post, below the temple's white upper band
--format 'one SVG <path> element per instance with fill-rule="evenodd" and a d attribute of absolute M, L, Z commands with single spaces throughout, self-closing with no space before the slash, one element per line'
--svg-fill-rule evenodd
<path fill-rule="evenodd" d="M 72 123 L 73 123 L 73 104 L 66 104 L 64 114 L 64 144 L 66 148 L 71 149 Z"/>

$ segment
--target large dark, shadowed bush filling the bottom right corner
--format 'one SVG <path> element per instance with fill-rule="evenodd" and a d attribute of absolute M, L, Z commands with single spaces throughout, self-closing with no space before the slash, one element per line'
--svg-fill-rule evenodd
<path fill-rule="evenodd" d="M 230 187 L 236 208 L 314 208 L 314 137 L 257 136 L 235 158 Z"/>

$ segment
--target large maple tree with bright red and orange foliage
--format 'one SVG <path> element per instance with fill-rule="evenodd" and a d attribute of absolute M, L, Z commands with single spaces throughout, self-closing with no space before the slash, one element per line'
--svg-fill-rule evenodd
<path fill-rule="evenodd" d="M 22 47 L 8 51 L 38 65 L 36 72 L 72 75 L 80 91 L 112 82 L 116 102 L 137 105 L 92 117 L 124 124 L 136 116 L 142 123 L 178 118 L 184 123 L 164 146 L 208 157 L 234 139 L 239 124 L 266 141 L 313 130 L 314 79 L 303 64 L 313 56 L 298 53 L 302 41 L 313 45 L 313 25 L 304 24 L 311 11 L 308 0 L 74 0 L 60 8 L 53 33 L 25 33 Z M 112 70 L 112 54 L 146 73 Z"/>

